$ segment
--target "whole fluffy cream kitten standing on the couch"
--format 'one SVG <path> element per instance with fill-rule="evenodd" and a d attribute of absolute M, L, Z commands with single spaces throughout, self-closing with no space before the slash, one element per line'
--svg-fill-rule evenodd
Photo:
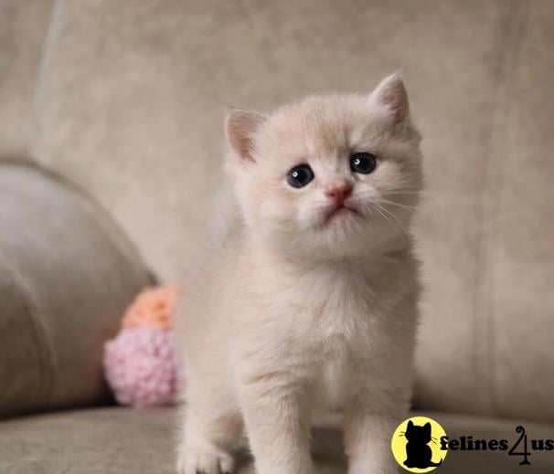
<path fill-rule="evenodd" d="M 419 295 L 407 228 L 421 139 L 402 79 L 270 115 L 232 110 L 226 132 L 237 215 L 176 322 L 178 472 L 231 472 L 245 427 L 260 474 L 311 474 L 311 420 L 342 409 L 348 472 L 391 473 Z"/>

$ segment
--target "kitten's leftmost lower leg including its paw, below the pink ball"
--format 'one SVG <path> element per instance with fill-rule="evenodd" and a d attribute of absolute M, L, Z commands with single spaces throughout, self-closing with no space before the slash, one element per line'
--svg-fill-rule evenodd
<path fill-rule="evenodd" d="M 229 398 L 191 396 L 181 414 L 182 432 L 177 445 L 178 474 L 230 474 L 232 450 L 242 432 L 240 411 Z"/>

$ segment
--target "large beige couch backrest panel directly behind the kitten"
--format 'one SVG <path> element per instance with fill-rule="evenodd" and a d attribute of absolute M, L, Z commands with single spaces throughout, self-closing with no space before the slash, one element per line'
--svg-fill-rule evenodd
<path fill-rule="evenodd" d="M 404 72 L 424 137 L 418 406 L 554 420 L 554 3 L 59 0 L 33 151 L 165 279 L 205 238 L 227 104 Z"/>

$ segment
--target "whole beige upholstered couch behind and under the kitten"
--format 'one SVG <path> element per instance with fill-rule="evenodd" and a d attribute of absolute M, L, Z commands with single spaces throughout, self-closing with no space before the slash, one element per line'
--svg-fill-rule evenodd
<path fill-rule="evenodd" d="M 414 406 L 450 437 L 553 438 L 553 51 L 550 0 L 0 0 L 0 473 L 172 472 L 173 409 L 109 406 L 101 342 L 148 269 L 186 277 L 223 106 L 397 69 L 428 181 Z M 529 459 L 438 472 L 554 472 Z"/>

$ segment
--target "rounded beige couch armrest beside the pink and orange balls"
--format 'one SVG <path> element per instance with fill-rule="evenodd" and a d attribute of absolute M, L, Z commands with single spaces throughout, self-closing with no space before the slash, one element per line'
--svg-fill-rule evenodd
<path fill-rule="evenodd" d="M 141 258 L 91 199 L 27 165 L 0 161 L 0 229 L 0 417 L 106 402 L 102 342 L 149 281 Z"/>

